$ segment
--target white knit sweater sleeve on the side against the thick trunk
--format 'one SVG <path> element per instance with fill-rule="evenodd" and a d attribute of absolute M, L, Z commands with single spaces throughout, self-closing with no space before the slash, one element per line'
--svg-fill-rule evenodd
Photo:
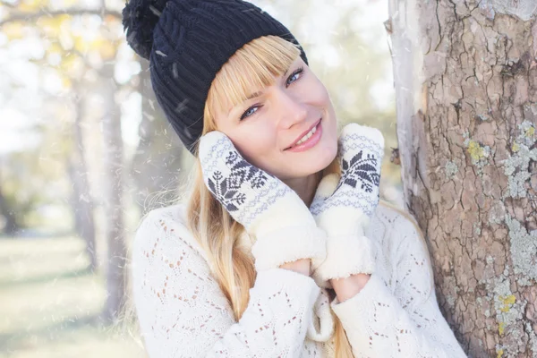
<path fill-rule="evenodd" d="M 397 217 L 392 234 L 400 237 L 393 289 L 373 273 L 360 293 L 343 303 L 337 298 L 331 303 L 354 356 L 466 357 L 439 311 L 422 238 L 403 216 Z"/>

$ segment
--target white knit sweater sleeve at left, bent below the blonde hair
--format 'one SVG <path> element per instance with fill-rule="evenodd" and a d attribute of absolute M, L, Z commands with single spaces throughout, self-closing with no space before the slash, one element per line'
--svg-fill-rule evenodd
<path fill-rule="evenodd" d="M 197 243 L 161 210 L 142 221 L 132 246 L 133 300 L 149 357 L 299 356 L 320 294 L 313 279 L 261 271 L 237 322 Z"/>

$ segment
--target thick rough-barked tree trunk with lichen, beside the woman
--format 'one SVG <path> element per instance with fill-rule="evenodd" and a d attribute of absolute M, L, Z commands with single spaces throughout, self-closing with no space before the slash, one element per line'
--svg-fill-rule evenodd
<path fill-rule="evenodd" d="M 537 4 L 389 0 L 405 204 L 472 357 L 537 357 Z"/>

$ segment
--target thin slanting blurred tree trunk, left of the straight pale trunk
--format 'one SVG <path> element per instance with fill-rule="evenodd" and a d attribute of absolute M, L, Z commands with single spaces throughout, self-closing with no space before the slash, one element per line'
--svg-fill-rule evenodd
<path fill-rule="evenodd" d="M 75 88 L 76 90 L 76 88 Z M 85 159 L 85 147 L 82 134 L 82 100 L 75 104 L 75 120 L 72 128 L 74 142 L 72 154 L 68 158 L 67 168 L 72 180 L 72 210 L 76 232 L 86 243 L 86 252 L 90 257 L 90 270 L 98 267 L 95 240 L 95 220 L 93 215 L 94 200 L 90 195 L 88 183 L 88 166 Z"/>

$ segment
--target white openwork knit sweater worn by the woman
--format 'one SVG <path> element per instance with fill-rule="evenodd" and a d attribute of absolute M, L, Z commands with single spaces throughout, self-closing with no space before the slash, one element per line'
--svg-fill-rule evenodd
<path fill-rule="evenodd" d="M 150 358 L 333 357 L 330 309 L 356 358 L 466 356 L 439 311 L 425 243 L 394 209 L 371 217 L 376 269 L 359 294 L 329 302 L 311 277 L 263 270 L 239 321 L 184 223 L 183 205 L 155 209 L 134 239 L 133 299 Z M 240 247 L 250 251 L 247 234 Z"/>

